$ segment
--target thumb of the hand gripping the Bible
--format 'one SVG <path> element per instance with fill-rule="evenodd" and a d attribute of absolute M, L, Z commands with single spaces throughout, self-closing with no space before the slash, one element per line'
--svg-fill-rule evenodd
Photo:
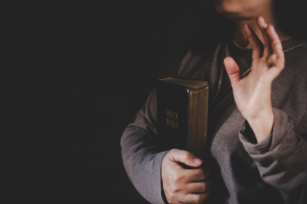
<path fill-rule="evenodd" d="M 181 162 L 192 167 L 200 167 L 203 163 L 202 159 L 199 159 L 191 152 L 179 149 L 173 149 L 173 150 L 174 151 L 172 157 L 173 160 L 176 162 Z"/>

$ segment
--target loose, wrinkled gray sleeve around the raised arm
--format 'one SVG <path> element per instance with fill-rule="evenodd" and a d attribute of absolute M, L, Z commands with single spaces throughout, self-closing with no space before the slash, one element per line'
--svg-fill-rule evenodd
<path fill-rule="evenodd" d="M 270 136 L 256 143 L 245 121 L 239 138 L 254 159 L 262 179 L 280 190 L 286 204 L 307 203 L 307 142 L 304 140 L 307 129 L 303 134 L 295 133 L 294 123 L 288 120 L 287 114 L 275 108 L 273 111 Z"/>

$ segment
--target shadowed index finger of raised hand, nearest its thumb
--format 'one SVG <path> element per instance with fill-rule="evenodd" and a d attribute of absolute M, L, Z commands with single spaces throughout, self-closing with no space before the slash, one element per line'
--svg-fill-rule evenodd
<path fill-rule="evenodd" d="M 259 40 L 259 38 L 256 36 L 254 30 L 247 23 L 244 23 L 243 30 L 248 39 L 248 42 L 253 48 L 253 59 L 261 57 L 263 45 L 261 41 Z"/>

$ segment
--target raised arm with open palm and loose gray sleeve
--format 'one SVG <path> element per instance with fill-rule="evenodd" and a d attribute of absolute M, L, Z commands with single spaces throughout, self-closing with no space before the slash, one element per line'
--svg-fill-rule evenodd
<path fill-rule="evenodd" d="M 298 135 L 287 115 L 273 109 L 272 82 L 284 68 L 284 54 L 273 26 L 262 18 L 257 18 L 257 25 L 265 40 L 263 50 L 253 30 L 244 25 L 253 47 L 250 74 L 242 78 L 236 62 L 231 57 L 224 60 L 235 103 L 246 119 L 240 139 L 263 180 L 280 190 L 286 203 L 303 203 L 307 196 L 307 144 L 302 138 L 307 134 L 306 120 L 303 119 L 306 132 Z"/>

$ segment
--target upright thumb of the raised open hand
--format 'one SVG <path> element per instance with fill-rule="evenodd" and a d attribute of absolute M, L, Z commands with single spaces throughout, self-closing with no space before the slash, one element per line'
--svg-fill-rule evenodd
<path fill-rule="evenodd" d="M 230 78 L 231 86 L 235 86 L 241 80 L 240 69 L 237 63 L 231 57 L 226 57 L 224 59 L 224 65 L 228 76 Z"/>

